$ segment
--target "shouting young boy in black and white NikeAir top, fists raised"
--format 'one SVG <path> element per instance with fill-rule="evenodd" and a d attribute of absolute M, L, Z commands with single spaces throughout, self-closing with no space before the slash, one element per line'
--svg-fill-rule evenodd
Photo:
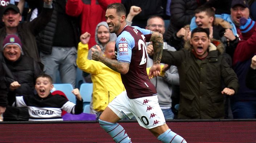
<path fill-rule="evenodd" d="M 53 81 L 49 75 L 42 74 L 36 78 L 35 89 L 37 94 L 16 96 L 17 107 L 28 107 L 29 121 L 62 121 L 61 112 L 65 110 L 72 114 L 83 112 L 83 99 L 78 89 L 72 93 L 77 97 L 77 104 L 74 104 L 61 97 L 61 95 L 52 95 Z"/>

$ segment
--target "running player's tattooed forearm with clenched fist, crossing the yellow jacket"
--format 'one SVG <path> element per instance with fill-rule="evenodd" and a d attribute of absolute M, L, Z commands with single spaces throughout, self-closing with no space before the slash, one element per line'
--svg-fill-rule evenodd
<path fill-rule="evenodd" d="M 109 68 L 111 68 L 113 71 L 119 72 L 121 74 L 126 74 L 129 70 L 129 63 L 124 62 L 118 62 L 116 60 L 112 60 L 109 58 L 106 58 L 102 55 L 102 51 L 100 50 L 99 46 L 96 46 L 98 49 L 92 48 L 92 59 L 95 61 L 100 61 Z"/>

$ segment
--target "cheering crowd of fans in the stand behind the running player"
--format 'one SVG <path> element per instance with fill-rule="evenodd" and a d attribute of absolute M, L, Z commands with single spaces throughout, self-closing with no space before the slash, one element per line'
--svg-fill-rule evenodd
<path fill-rule="evenodd" d="M 161 75 L 150 80 L 165 119 L 256 118 L 255 0 L 222 0 L 222 4 L 218 0 L 2 1 L 1 120 L 41 118 L 32 115 L 35 112 L 27 106 L 33 103 L 28 101 L 51 98 L 58 102 L 49 92 L 56 73 L 62 83 L 75 88 L 77 67 L 85 81 L 93 83 L 91 113 L 98 119 L 107 104 L 125 90 L 120 73 L 91 58 L 91 48 L 99 46 L 105 57 L 115 59 L 116 35 L 109 32 L 105 19 L 111 3 L 125 5 L 128 25 L 164 35 Z M 200 32 L 208 33 L 210 44 L 196 39 L 207 37 L 197 35 Z M 146 43 L 146 52 L 150 67 L 152 43 Z M 42 86 L 47 82 L 47 88 L 37 85 L 38 78 Z M 30 98 L 35 94 L 35 99 Z M 74 95 L 77 105 L 61 100 L 56 117 L 61 109 L 82 112 L 77 89 Z"/>

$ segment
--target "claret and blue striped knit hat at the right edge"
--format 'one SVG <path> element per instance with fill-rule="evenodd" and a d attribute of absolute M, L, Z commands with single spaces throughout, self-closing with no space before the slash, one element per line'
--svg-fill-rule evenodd
<path fill-rule="evenodd" d="M 240 30 L 241 30 L 243 39 L 244 40 L 249 39 L 249 37 L 252 36 L 252 33 L 256 28 L 255 21 L 253 21 L 251 18 L 246 19 L 244 17 L 241 17 L 239 22 L 240 22 Z"/>

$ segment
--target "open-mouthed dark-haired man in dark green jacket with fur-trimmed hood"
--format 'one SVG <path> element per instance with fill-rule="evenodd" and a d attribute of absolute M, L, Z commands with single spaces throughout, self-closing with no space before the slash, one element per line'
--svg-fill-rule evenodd
<path fill-rule="evenodd" d="M 163 51 L 161 62 L 177 66 L 179 72 L 178 119 L 224 119 L 223 94 L 234 95 L 239 85 L 223 51 L 223 44 L 211 41 L 203 28 L 192 31 L 184 49 Z"/>

